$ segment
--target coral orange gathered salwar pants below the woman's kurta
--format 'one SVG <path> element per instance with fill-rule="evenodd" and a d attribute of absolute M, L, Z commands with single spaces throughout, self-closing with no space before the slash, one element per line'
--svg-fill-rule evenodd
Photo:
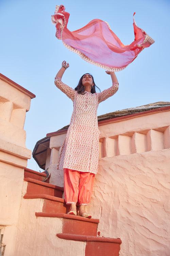
<path fill-rule="evenodd" d="M 91 199 L 95 174 L 64 168 L 64 199 L 67 204 L 88 205 Z"/>

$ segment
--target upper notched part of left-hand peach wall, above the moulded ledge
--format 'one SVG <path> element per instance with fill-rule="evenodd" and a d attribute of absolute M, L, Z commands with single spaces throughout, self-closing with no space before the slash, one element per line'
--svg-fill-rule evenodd
<path fill-rule="evenodd" d="M 0 79 L 0 139 L 26 147 L 23 130 L 31 98 Z"/>

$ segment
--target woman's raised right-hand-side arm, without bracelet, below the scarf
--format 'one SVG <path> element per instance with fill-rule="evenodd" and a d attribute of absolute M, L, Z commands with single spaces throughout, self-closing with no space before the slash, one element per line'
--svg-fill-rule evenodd
<path fill-rule="evenodd" d="M 106 73 L 108 75 L 111 75 L 112 86 L 108 89 L 103 90 L 101 93 L 98 93 L 99 103 L 114 95 L 119 88 L 119 83 L 115 75 L 115 72 L 106 71 Z"/>

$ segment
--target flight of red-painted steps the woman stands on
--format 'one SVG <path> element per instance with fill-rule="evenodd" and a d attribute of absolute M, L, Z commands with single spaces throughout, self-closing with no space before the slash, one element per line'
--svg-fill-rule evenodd
<path fill-rule="evenodd" d="M 86 242 L 85 256 L 119 256 L 120 238 L 97 237 L 99 219 L 66 214 L 69 206 L 62 198 L 64 188 L 42 182 L 45 176 L 44 173 L 37 173 L 27 168 L 24 171 L 24 181 L 28 182 L 24 198 L 44 200 L 42 212 L 36 212 L 36 217 L 62 218 L 62 233 L 56 236 L 61 239 Z"/>

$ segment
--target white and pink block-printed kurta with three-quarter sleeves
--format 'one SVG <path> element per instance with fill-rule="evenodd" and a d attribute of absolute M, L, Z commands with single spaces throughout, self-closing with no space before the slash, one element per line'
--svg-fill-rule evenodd
<path fill-rule="evenodd" d="M 73 112 L 66 138 L 61 148 L 57 169 L 69 168 L 81 172 L 98 173 L 99 138 L 97 108 L 100 102 L 114 95 L 119 83 L 101 93 L 78 94 L 55 77 L 55 85 L 73 101 Z"/>

